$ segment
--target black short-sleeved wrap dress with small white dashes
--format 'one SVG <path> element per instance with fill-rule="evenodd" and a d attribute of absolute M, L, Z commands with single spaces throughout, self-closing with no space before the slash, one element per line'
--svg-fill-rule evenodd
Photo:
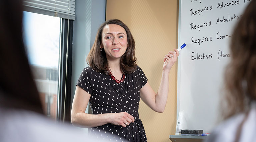
<path fill-rule="evenodd" d="M 91 95 L 89 103 L 93 114 L 127 112 L 135 121 L 127 127 L 111 123 L 94 127 L 91 135 L 117 142 L 146 142 L 146 133 L 139 119 L 140 89 L 147 78 L 140 67 L 126 74 L 124 82 L 116 83 L 109 75 L 84 68 L 76 85 Z M 102 133 L 105 133 L 102 135 Z"/>

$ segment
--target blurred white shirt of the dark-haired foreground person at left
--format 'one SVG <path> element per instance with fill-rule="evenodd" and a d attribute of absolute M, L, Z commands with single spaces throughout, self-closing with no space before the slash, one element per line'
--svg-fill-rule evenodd
<path fill-rule="evenodd" d="M 32 111 L 0 107 L 0 142 L 104 142 L 87 135 Z"/>

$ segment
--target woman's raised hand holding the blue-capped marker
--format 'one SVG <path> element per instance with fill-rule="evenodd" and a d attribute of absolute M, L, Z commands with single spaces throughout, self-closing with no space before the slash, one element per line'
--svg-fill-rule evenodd
<path fill-rule="evenodd" d="M 170 51 L 168 54 L 165 55 L 163 71 L 170 71 L 174 63 L 177 61 L 179 54 L 179 51 L 177 49 L 174 49 L 174 51 Z"/>

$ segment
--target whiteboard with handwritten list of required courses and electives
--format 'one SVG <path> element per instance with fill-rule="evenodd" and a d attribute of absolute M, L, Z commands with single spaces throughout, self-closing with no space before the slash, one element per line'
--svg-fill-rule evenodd
<path fill-rule="evenodd" d="M 219 118 L 229 42 L 249 0 L 179 0 L 177 117 L 210 132 Z"/>

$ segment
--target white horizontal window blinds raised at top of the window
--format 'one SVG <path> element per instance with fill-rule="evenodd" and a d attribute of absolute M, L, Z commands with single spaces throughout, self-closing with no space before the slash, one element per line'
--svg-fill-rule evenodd
<path fill-rule="evenodd" d="M 24 0 L 24 11 L 75 20 L 75 0 Z"/>

